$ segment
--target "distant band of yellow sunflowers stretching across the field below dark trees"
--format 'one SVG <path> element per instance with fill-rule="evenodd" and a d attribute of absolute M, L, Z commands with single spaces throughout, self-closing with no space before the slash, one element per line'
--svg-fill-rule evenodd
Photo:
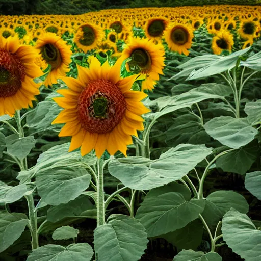
<path fill-rule="evenodd" d="M 0 34 L 18 35 L 21 43 L 35 45 L 45 32 L 70 35 L 74 51 L 98 49 L 121 52 L 118 43 L 129 43 L 133 36 L 163 41 L 179 54 L 189 54 L 193 32 L 205 28 L 213 37 L 214 54 L 232 51 L 234 40 L 241 48 L 260 37 L 260 6 L 204 6 L 179 8 L 115 9 L 84 15 L 0 16 Z M 120 45 L 121 46 L 121 45 Z"/>

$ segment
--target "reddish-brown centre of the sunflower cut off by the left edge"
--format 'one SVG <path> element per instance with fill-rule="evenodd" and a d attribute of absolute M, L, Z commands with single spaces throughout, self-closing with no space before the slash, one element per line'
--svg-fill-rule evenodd
<path fill-rule="evenodd" d="M 9 51 L 0 49 L 0 97 L 16 94 L 21 88 L 24 77 L 21 61 Z"/>

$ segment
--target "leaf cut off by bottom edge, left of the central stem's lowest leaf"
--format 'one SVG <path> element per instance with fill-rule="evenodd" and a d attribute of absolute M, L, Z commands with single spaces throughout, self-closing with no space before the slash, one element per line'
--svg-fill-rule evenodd
<path fill-rule="evenodd" d="M 71 244 L 67 247 L 45 245 L 33 250 L 27 261 L 90 261 L 92 256 L 93 250 L 88 243 Z"/>

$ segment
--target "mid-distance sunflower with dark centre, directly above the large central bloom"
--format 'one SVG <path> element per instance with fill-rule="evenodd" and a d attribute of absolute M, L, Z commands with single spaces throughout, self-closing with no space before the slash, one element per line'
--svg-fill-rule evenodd
<path fill-rule="evenodd" d="M 103 32 L 100 27 L 86 23 L 80 25 L 73 40 L 76 45 L 86 53 L 88 50 L 96 48 L 97 45 L 100 44 L 102 38 Z"/>

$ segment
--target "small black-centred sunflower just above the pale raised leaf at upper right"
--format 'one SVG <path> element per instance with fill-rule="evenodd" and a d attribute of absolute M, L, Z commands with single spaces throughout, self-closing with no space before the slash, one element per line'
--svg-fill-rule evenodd
<path fill-rule="evenodd" d="M 234 45 L 233 35 L 222 30 L 212 39 L 212 50 L 215 55 L 220 55 L 223 50 L 231 52 Z"/>

